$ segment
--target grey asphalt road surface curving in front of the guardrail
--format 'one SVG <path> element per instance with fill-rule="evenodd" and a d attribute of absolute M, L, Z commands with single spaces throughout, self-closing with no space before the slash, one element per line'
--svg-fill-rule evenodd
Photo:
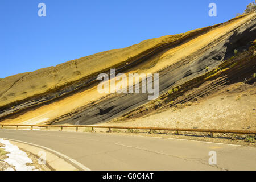
<path fill-rule="evenodd" d="M 131 135 L 0 130 L 0 138 L 61 152 L 91 170 L 256 170 L 256 148 Z M 217 165 L 209 164 L 210 151 Z M 46 156 L 47 157 L 47 156 Z"/>

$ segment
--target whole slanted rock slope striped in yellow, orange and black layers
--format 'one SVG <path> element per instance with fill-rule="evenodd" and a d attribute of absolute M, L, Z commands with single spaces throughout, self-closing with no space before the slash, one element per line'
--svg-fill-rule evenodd
<path fill-rule="evenodd" d="M 197 94 L 175 103 L 249 79 L 256 72 L 251 43 L 256 39 L 255 18 L 256 13 L 250 13 L 215 26 L 4 78 L 0 80 L 0 122 L 87 125 L 155 111 L 156 101 L 148 100 L 147 94 L 99 94 L 97 75 L 109 74 L 110 68 L 115 68 L 116 74 L 159 73 L 161 107 L 168 107 L 172 100 L 205 81 L 213 79 Z M 172 88 L 179 92 L 168 94 Z"/>

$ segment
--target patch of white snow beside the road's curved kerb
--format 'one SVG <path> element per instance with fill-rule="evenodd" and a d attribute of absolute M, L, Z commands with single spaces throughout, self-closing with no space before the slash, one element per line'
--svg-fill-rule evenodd
<path fill-rule="evenodd" d="M 9 158 L 4 159 L 3 161 L 7 162 L 9 165 L 14 166 L 16 171 L 32 171 L 35 169 L 34 166 L 27 166 L 27 163 L 32 163 L 32 160 L 28 158 L 26 152 L 19 150 L 18 146 L 15 146 L 9 142 L 9 140 L 4 140 L 0 138 L 0 143 L 5 144 L 3 148 L 6 152 L 10 152 L 6 154 Z M 8 168 L 7 170 L 11 170 Z"/>

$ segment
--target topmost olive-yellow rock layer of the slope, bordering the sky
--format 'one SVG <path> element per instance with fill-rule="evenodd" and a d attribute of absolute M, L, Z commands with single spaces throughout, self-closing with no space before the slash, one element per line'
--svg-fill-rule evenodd
<path fill-rule="evenodd" d="M 58 90 L 82 78 L 115 68 L 145 51 L 180 39 L 183 34 L 167 35 L 145 40 L 133 46 L 96 53 L 95 55 L 71 60 L 56 67 L 48 67 L 29 73 L 6 77 L 0 80 L 0 107 L 32 96 Z"/>

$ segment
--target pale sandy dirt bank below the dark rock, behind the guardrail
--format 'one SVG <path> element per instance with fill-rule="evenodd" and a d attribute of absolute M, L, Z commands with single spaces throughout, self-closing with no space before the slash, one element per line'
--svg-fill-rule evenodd
<path fill-rule="evenodd" d="M 255 131 L 255 94 L 255 84 L 236 83 L 192 102 L 191 106 L 171 107 L 141 118 L 112 121 L 102 125 Z"/>

